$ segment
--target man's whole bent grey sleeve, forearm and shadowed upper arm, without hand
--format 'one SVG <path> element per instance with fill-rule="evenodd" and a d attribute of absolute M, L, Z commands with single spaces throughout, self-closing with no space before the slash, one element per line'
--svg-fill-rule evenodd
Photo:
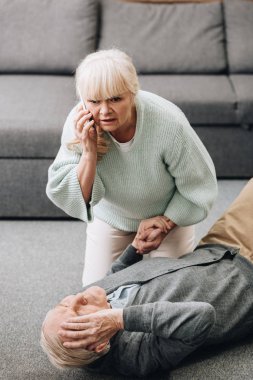
<path fill-rule="evenodd" d="M 206 341 L 215 323 L 214 308 L 204 302 L 155 302 L 123 313 L 118 368 L 133 376 L 172 369 Z"/>

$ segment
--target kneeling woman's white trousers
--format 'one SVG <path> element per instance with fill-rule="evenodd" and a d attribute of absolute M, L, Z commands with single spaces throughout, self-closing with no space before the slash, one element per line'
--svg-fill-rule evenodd
<path fill-rule="evenodd" d="M 132 243 L 135 232 L 113 228 L 100 219 L 94 218 L 86 229 L 86 250 L 83 270 L 83 286 L 103 278 L 112 261 Z M 194 249 L 195 227 L 175 227 L 162 241 L 159 248 L 146 257 L 177 258 Z"/>

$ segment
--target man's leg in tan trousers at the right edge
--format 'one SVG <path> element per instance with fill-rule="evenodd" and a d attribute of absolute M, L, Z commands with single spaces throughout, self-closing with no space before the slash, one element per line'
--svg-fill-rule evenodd
<path fill-rule="evenodd" d="M 253 178 L 199 242 L 209 243 L 238 247 L 253 262 Z"/>

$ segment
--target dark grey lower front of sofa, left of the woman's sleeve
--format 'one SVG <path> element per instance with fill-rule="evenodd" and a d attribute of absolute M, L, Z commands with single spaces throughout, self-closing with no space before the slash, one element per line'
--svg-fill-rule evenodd
<path fill-rule="evenodd" d="M 46 196 L 48 168 L 52 161 L 22 158 L 0 160 L 1 218 L 66 217 Z"/>

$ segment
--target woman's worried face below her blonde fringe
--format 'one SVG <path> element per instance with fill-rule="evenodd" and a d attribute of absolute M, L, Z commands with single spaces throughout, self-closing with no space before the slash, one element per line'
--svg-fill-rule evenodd
<path fill-rule="evenodd" d="M 134 96 L 129 91 L 110 99 L 85 99 L 88 110 L 92 113 L 95 124 L 105 132 L 122 131 L 135 127 Z"/>

